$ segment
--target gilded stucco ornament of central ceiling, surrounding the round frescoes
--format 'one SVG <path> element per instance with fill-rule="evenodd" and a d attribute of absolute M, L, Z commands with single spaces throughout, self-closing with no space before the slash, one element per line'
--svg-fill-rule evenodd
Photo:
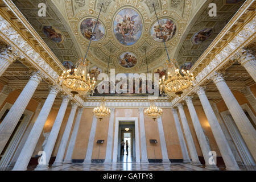
<path fill-rule="evenodd" d="M 69 19 L 69 24 L 72 28 L 73 33 L 76 36 L 77 42 L 79 42 L 82 49 L 85 49 L 88 46 L 89 41 L 86 40 L 79 30 L 79 26 L 81 21 L 84 18 L 97 18 L 98 15 L 98 9 L 97 4 L 99 1 L 88 1 L 88 4 L 86 6 L 82 6 L 76 14 L 73 14 L 72 10 L 72 0 L 65 1 L 65 9 L 67 13 L 67 17 Z M 174 36 L 174 38 L 171 39 L 171 41 L 167 42 L 167 47 L 170 51 L 174 49 L 174 47 L 179 43 L 181 35 L 183 34 L 185 27 L 187 26 L 187 22 L 189 19 L 189 15 L 191 13 L 191 6 L 192 1 L 187 0 L 185 1 L 184 5 L 184 14 L 183 16 L 177 13 L 176 11 L 168 11 L 168 1 L 162 0 L 159 1 L 162 3 L 160 7 L 162 7 L 162 10 L 157 10 L 159 19 L 161 18 L 171 18 L 174 20 L 177 26 L 177 31 Z M 109 5 L 109 3 L 107 4 Z M 133 46 L 122 46 L 116 39 L 113 33 L 113 20 L 115 18 L 115 15 L 118 13 L 119 10 L 122 10 L 123 8 L 131 8 L 137 11 L 139 15 L 141 15 L 143 19 L 143 32 L 141 38 L 136 42 Z M 164 10 L 166 9 L 166 10 Z M 108 10 L 106 10 L 106 13 L 102 13 L 100 15 L 100 20 L 102 25 L 105 28 L 105 38 L 101 39 L 97 42 L 92 42 L 92 47 L 98 47 L 100 48 L 100 51 L 98 53 L 105 54 L 106 57 L 109 55 L 109 48 L 106 48 L 106 44 L 109 44 L 110 42 L 116 46 L 117 51 L 114 52 L 112 55 L 112 59 L 114 60 L 113 64 L 110 64 L 110 67 L 115 67 L 115 71 L 117 73 L 119 72 L 142 72 L 142 68 L 146 70 L 146 64 L 143 63 L 144 59 L 144 52 L 140 51 L 140 48 L 143 47 L 144 43 L 147 42 L 148 46 L 150 48 L 147 48 L 148 56 L 151 56 L 154 54 L 156 49 L 163 48 L 163 43 L 161 42 L 155 42 L 152 40 L 150 36 L 150 29 L 152 26 L 152 22 L 156 21 L 154 13 L 150 13 L 150 10 L 148 10 L 148 6 L 145 6 L 144 1 L 113 1 L 111 3 L 111 6 L 108 6 Z M 110 45 L 111 46 L 111 45 Z M 120 55 L 122 52 L 125 51 L 133 51 L 137 56 L 141 63 L 137 64 L 135 67 L 126 69 L 123 68 L 118 63 L 118 55 Z M 92 61 L 92 63 L 101 65 L 101 67 L 107 67 L 107 64 L 102 61 L 102 59 L 98 56 L 98 53 L 92 53 L 92 51 L 89 52 L 89 60 Z M 152 63 L 149 64 L 149 69 L 155 68 L 156 65 L 163 64 L 166 60 L 166 55 L 164 53 L 155 56 L 155 60 L 152 60 Z M 160 58 L 160 61 L 159 61 Z M 159 63 L 160 62 L 160 63 Z"/>

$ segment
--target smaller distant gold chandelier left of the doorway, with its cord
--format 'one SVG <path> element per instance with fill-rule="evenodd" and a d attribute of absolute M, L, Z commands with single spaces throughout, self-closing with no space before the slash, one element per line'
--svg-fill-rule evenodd
<path fill-rule="evenodd" d="M 110 56 L 111 56 L 111 51 L 112 49 L 110 48 L 110 53 L 109 53 L 109 63 L 110 63 Z M 109 63 L 108 63 L 108 71 L 107 74 L 109 73 Z M 102 101 L 101 101 L 101 106 L 100 107 L 95 107 L 93 109 L 93 114 L 95 115 L 95 117 L 97 119 L 100 119 L 100 121 L 104 118 L 104 117 L 108 117 L 110 115 L 110 109 L 105 107 L 105 97 L 103 97 Z"/>

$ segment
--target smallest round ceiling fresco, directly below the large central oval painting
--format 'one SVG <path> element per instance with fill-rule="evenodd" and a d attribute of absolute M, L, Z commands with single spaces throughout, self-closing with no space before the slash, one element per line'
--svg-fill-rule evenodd
<path fill-rule="evenodd" d="M 133 52 L 123 52 L 118 60 L 123 68 L 133 68 L 138 63 L 138 57 Z"/>

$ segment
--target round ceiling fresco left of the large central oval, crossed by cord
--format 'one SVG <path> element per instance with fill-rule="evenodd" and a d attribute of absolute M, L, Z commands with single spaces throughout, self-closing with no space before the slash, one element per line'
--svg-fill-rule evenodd
<path fill-rule="evenodd" d="M 102 26 L 101 22 L 97 23 L 96 30 L 93 35 L 93 30 L 94 30 L 96 22 L 97 22 L 97 20 L 94 18 L 86 18 L 80 24 L 81 34 L 87 40 L 90 40 L 90 38 L 92 38 L 92 41 L 99 41 L 102 38 L 104 38 L 105 29 L 104 29 L 104 26 Z"/>

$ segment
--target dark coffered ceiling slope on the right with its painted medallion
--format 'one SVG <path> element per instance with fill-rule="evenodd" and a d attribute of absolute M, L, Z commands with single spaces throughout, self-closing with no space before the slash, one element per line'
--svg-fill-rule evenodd
<path fill-rule="evenodd" d="M 181 67 L 189 65 L 190 69 L 190 65 L 195 64 L 245 1 L 214 0 L 210 2 L 217 5 L 217 17 L 208 15 L 208 6 L 195 16 L 195 23 L 187 29 L 180 42 L 181 46 L 175 53 L 175 59 Z"/>

